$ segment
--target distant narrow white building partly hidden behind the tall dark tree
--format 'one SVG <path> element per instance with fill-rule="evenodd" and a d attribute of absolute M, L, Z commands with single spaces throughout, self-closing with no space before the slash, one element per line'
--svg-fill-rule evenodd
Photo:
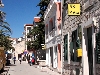
<path fill-rule="evenodd" d="M 25 49 L 28 50 L 27 41 L 31 41 L 31 37 L 28 36 L 28 33 L 33 29 L 33 24 L 25 24 L 24 25 L 24 34 L 25 34 Z"/>

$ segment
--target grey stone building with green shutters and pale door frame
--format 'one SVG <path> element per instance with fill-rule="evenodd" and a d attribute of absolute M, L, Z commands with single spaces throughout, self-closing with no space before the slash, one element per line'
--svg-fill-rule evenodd
<path fill-rule="evenodd" d="M 100 33 L 100 0 L 63 1 L 63 69 L 66 75 L 99 75 L 99 48 L 96 48 L 95 37 Z M 81 14 L 69 16 L 68 3 L 80 3 Z M 78 49 L 82 49 L 80 57 Z"/>

